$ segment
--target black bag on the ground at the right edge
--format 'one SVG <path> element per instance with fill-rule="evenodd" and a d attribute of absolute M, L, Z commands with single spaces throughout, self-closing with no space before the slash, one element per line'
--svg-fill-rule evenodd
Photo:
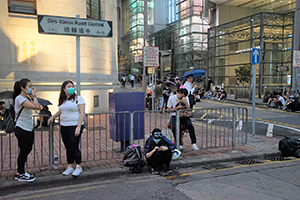
<path fill-rule="evenodd" d="M 285 136 L 279 141 L 278 149 L 283 156 L 294 156 L 295 152 L 300 148 L 300 140 Z M 300 154 L 300 151 L 298 152 Z M 295 154 L 296 155 L 296 154 Z M 297 156 L 295 156 L 297 157 Z M 299 155 L 300 157 L 300 155 Z"/>

